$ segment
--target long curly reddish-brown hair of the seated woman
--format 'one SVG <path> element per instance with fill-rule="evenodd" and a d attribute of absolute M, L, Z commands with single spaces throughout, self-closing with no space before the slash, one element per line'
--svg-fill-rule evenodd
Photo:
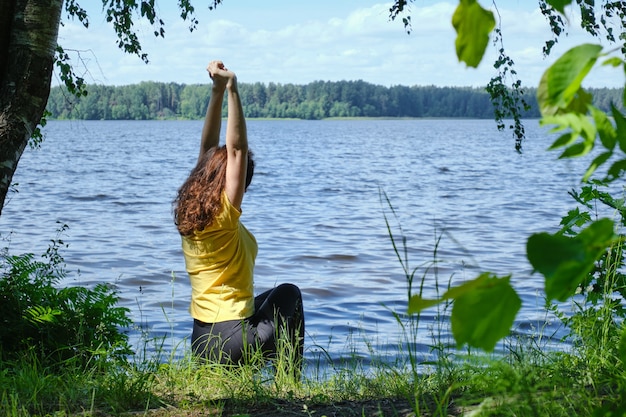
<path fill-rule="evenodd" d="M 226 146 L 209 149 L 179 188 L 174 200 L 174 224 L 183 236 L 202 231 L 222 210 L 222 191 L 226 186 Z M 248 151 L 247 189 L 254 174 L 252 151 Z"/>

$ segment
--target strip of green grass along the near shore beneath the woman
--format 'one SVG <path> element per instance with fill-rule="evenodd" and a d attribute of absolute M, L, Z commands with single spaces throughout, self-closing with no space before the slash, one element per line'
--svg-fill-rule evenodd
<path fill-rule="evenodd" d="M 404 320 L 408 322 L 403 325 L 403 345 L 410 346 L 406 341 L 415 337 L 416 319 Z M 438 339 L 440 334 L 433 333 L 432 337 L 433 347 L 445 345 Z M 438 346 L 437 359 L 427 363 L 416 354 L 404 352 L 391 363 L 370 361 L 366 367 L 354 359 L 333 365 L 329 373 L 298 380 L 283 371 L 289 368 L 292 356 L 287 348 L 273 366 L 252 358 L 241 367 L 203 365 L 188 353 L 182 359 L 172 359 L 175 355 L 159 352 L 126 361 L 100 357 L 88 368 L 68 360 L 61 368 L 52 369 L 42 367 L 37 355 L 30 354 L 1 364 L 0 414 L 621 415 L 608 411 L 594 414 L 603 407 L 619 410 L 618 399 L 626 380 L 614 349 L 595 349 L 593 356 L 588 349 L 546 352 L 536 338 L 508 339 L 504 355 L 461 353 Z"/>

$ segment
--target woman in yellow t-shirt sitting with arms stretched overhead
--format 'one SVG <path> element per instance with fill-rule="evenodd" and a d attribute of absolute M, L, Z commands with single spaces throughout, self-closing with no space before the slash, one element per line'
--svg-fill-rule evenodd
<path fill-rule="evenodd" d="M 261 349 L 271 357 L 287 337 L 298 366 L 304 314 L 298 287 L 282 284 L 256 298 L 254 236 L 241 224 L 241 203 L 254 171 L 237 77 L 221 61 L 213 80 L 196 167 L 178 190 L 174 222 L 191 280 L 192 350 L 213 362 L 240 363 Z M 219 146 L 222 103 L 228 95 L 226 144 Z"/>

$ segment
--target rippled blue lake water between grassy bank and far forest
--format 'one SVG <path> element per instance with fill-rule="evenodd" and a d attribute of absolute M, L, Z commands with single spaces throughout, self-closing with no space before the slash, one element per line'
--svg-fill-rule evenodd
<path fill-rule="evenodd" d="M 24 153 L 19 192 L 0 217 L 11 253 L 42 254 L 57 222 L 67 224 L 64 285 L 116 285 L 140 326 L 134 343 L 164 336 L 176 355 L 188 349 L 192 320 L 171 203 L 196 161 L 201 128 L 50 121 L 41 148 Z M 409 268 L 427 295 L 481 271 L 512 274 L 523 300 L 515 331 L 544 326 L 542 279 L 531 274 L 526 240 L 555 231 L 574 207 L 567 191 L 583 165 L 547 152 L 551 138 L 536 120 L 526 129 L 518 154 L 511 133 L 491 120 L 248 121 L 256 170 L 241 220 L 259 244 L 255 288 L 302 289 L 308 361 L 396 354 L 394 312 L 406 311 L 407 283 L 385 219 L 399 245 L 406 237 Z M 436 315 L 421 319 L 424 355 Z"/>

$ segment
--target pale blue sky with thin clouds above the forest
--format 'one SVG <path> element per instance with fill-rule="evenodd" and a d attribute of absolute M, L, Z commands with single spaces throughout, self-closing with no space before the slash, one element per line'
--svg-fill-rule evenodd
<path fill-rule="evenodd" d="M 568 9 L 568 36 L 546 59 L 542 46 L 550 33 L 537 1 L 497 0 L 497 9 L 494 1 L 479 2 L 501 22 L 504 47 L 525 86 L 536 87 L 548 65 L 572 46 L 601 43 L 578 28 L 575 10 Z M 89 13 L 89 28 L 64 18 L 59 44 L 89 84 L 209 83 L 206 66 L 213 59 L 222 60 L 243 83 L 363 80 L 383 86 L 484 87 L 496 74 L 491 43 L 478 68 L 458 61 L 451 24 L 458 1 L 414 0 L 407 12 L 408 34 L 401 20 L 390 20 L 392 3 L 380 0 L 223 0 L 215 10 L 195 0 L 199 24 L 193 32 L 180 18 L 178 2 L 157 0 L 165 38 L 155 37 L 147 22 L 137 27 L 148 64 L 117 47 L 100 2 L 79 3 Z M 59 83 L 55 77 L 53 85 Z M 623 87 L 624 74 L 598 68 L 585 85 Z"/>

